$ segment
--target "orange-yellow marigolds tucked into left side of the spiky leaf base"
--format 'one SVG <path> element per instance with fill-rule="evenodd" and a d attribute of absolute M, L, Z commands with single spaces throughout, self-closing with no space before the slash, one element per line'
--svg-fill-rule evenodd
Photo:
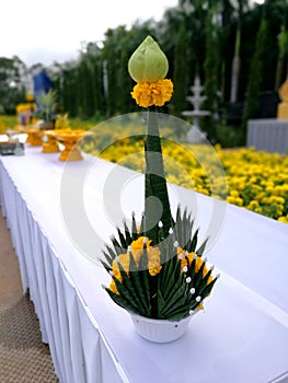
<path fill-rule="evenodd" d="M 146 236 L 140 236 L 138 240 L 134 241 L 130 244 L 131 247 L 131 254 L 136 262 L 136 265 L 139 265 L 139 260 L 141 258 L 142 252 L 143 252 L 143 245 L 146 243 L 147 246 L 147 256 L 148 256 L 148 268 L 149 274 L 151 276 L 155 276 L 160 272 L 162 266 L 160 264 L 160 251 L 158 247 L 150 246 L 151 240 L 149 240 Z M 129 266 L 130 266 L 130 255 L 129 252 L 125 254 L 118 255 L 117 260 L 114 259 L 112 264 L 112 271 L 113 275 L 122 282 L 122 275 L 119 270 L 118 264 L 122 265 L 123 269 L 126 271 L 127 276 L 129 276 Z M 118 290 L 116 288 L 115 281 L 112 280 L 110 289 L 116 293 L 118 293 Z"/>

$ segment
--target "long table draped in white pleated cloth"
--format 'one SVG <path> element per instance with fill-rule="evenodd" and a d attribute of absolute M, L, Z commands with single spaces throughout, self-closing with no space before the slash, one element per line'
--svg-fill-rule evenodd
<path fill-rule="evenodd" d="M 39 148 L 0 158 L 0 202 L 60 382 L 288 381 L 287 224 L 171 186 L 173 209 L 188 204 L 211 235 L 221 278 L 181 339 L 149 343 L 102 288 L 99 264 L 115 222 L 140 214 L 142 176 L 57 158 Z"/>

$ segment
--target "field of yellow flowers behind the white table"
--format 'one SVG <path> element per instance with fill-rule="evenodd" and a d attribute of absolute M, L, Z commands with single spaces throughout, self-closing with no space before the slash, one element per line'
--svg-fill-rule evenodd
<path fill-rule="evenodd" d="M 138 135 L 129 137 L 127 131 L 127 137 L 117 139 L 115 129 L 111 136 L 105 134 L 104 139 L 99 139 L 96 146 L 95 140 L 85 142 L 83 150 L 143 172 L 141 130 Z M 288 223 L 288 156 L 253 148 L 214 149 L 162 139 L 168 181 Z"/>

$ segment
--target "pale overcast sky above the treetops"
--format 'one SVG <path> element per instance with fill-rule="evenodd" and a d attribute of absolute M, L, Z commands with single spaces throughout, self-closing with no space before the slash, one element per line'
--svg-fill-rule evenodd
<path fill-rule="evenodd" d="M 160 20 L 177 0 L 3 0 L 0 57 L 27 66 L 78 57 L 81 42 L 102 40 L 107 28 L 136 20 Z"/>

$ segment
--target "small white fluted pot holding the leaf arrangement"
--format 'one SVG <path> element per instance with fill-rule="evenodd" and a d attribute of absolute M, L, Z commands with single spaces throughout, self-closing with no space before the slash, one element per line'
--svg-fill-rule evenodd
<path fill-rule="evenodd" d="M 164 344 L 182 337 L 189 324 L 189 315 L 181 321 L 152 320 L 129 313 L 137 333 L 147 340 Z"/>

